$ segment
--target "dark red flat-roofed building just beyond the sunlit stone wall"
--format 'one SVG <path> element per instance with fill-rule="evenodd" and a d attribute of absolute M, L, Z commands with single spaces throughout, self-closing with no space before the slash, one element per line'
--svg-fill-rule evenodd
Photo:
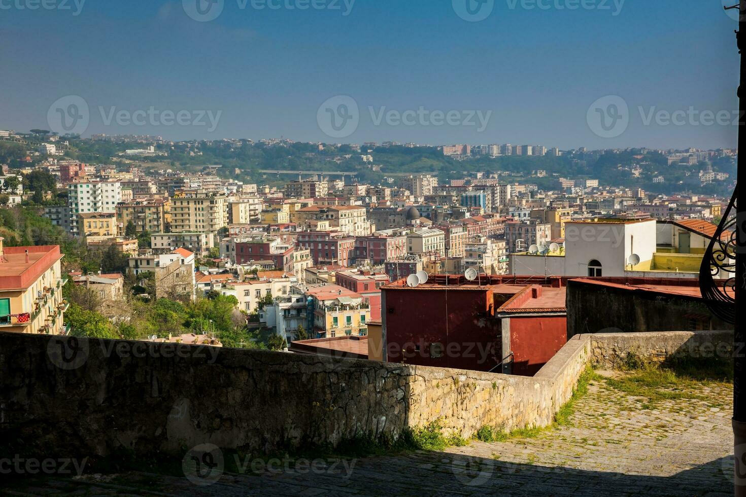
<path fill-rule="evenodd" d="M 433 276 L 382 292 L 387 361 L 533 376 L 566 343 L 561 278 Z"/>

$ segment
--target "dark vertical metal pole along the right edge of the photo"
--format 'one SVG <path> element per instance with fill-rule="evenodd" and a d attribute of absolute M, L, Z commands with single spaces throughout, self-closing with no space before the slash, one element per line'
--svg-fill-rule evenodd
<path fill-rule="evenodd" d="M 739 150 L 737 155 L 738 180 L 736 184 L 736 323 L 733 345 L 736 354 L 733 358 L 733 454 L 736 457 L 735 495 L 746 497 L 746 357 L 743 344 L 746 343 L 746 164 L 741 165 L 740 153 L 746 151 L 746 0 L 740 0 L 739 54 L 741 55 L 741 84 L 739 86 Z M 740 186 L 740 188 L 739 188 Z"/>

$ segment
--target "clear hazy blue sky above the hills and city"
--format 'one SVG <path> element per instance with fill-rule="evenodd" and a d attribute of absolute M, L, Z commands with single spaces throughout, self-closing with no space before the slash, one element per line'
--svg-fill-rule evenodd
<path fill-rule="evenodd" d="M 736 28 L 721 0 L 0 0 L 0 130 L 735 148 Z"/>

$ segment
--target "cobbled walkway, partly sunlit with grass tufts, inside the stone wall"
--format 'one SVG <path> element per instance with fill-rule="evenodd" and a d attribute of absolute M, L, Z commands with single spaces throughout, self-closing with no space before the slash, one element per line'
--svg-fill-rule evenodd
<path fill-rule="evenodd" d="M 398 457 L 318 460 L 313 470 L 224 474 L 207 486 L 127 473 L 23 481 L 10 490 L 99 496 L 729 496 L 731 390 L 718 384 L 697 393 L 706 400 L 668 400 L 641 409 L 644 399 L 593 382 L 577 402 L 571 426 L 533 438 Z"/>

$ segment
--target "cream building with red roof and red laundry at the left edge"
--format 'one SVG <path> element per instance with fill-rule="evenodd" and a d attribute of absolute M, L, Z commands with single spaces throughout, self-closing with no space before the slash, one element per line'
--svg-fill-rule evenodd
<path fill-rule="evenodd" d="M 60 247 L 3 247 L 0 237 L 0 331 L 63 335 Z"/>

